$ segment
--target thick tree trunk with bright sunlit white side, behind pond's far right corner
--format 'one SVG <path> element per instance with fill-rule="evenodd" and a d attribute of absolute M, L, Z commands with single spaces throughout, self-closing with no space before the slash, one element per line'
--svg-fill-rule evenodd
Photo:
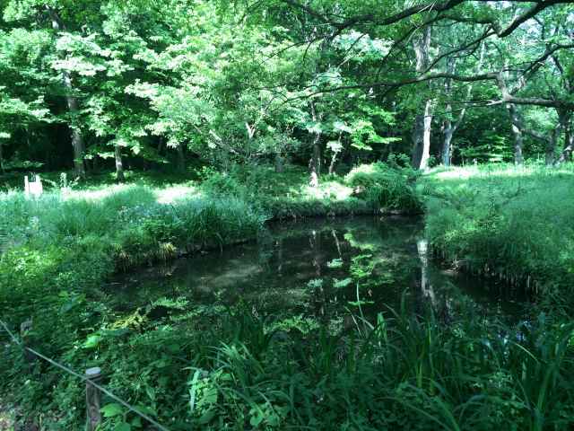
<path fill-rule="evenodd" d="M 422 73 L 429 66 L 429 50 L 431 48 L 431 27 L 422 31 L 420 38 L 413 41 L 416 55 L 416 71 Z M 413 167 L 425 170 L 429 165 L 431 155 L 431 100 L 423 101 L 423 113 L 416 115 L 413 129 Z"/>

